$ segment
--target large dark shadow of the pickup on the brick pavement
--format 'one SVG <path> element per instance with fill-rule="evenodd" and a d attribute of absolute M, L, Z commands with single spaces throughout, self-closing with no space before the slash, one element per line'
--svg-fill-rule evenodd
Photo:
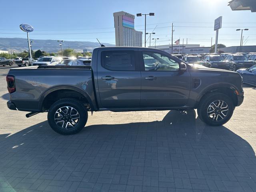
<path fill-rule="evenodd" d="M 72 191 L 114 184 L 147 192 L 256 190 L 250 144 L 225 126 L 206 126 L 194 110 L 170 111 L 162 121 L 86 126 L 71 136 L 44 121 L 0 135 L 0 145 L 0 189 L 48 191 L 54 181 L 55 191 L 74 183 Z"/>

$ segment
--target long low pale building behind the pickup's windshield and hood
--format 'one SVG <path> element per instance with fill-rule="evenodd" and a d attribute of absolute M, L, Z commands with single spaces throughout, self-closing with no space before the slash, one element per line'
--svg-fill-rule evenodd
<path fill-rule="evenodd" d="M 173 47 L 172 45 L 158 45 L 150 46 L 150 48 L 161 49 L 173 54 L 200 54 L 210 52 L 210 47 L 200 47 L 200 44 L 174 45 Z"/>

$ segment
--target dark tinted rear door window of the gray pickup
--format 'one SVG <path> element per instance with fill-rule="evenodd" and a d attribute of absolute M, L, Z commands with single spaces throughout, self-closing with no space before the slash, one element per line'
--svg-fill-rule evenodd
<path fill-rule="evenodd" d="M 103 51 L 102 67 L 113 71 L 135 71 L 134 51 Z"/>

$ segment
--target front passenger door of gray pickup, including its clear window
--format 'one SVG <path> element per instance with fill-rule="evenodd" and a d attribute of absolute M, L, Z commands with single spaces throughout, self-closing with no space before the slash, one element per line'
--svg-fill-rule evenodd
<path fill-rule="evenodd" d="M 185 106 L 190 94 L 190 73 L 180 71 L 179 61 L 157 51 L 140 51 L 141 99 L 144 108 Z"/>

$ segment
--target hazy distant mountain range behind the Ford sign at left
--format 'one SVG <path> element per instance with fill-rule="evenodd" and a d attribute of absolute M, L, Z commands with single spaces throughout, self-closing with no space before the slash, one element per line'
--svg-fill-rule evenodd
<path fill-rule="evenodd" d="M 60 46 L 57 40 L 36 40 L 30 39 L 33 41 L 32 50 L 42 50 L 46 52 L 58 52 L 60 51 Z M 113 44 L 104 43 L 105 46 L 115 46 Z M 99 47 L 98 42 L 89 42 L 89 41 L 64 41 L 62 43 L 62 49 L 72 48 L 76 52 L 83 52 L 84 49 L 92 51 L 94 48 Z M 26 38 L 0 38 L 0 50 L 15 52 L 23 52 L 28 50 L 28 40 Z"/>

